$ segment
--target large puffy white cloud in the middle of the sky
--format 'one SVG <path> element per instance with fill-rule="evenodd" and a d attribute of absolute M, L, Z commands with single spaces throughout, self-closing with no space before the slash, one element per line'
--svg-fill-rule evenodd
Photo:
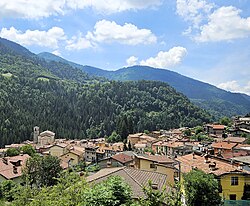
<path fill-rule="evenodd" d="M 148 29 L 139 29 L 129 23 L 121 26 L 107 20 L 98 21 L 95 30 L 88 32 L 86 38 L 95 42 L 118 42 L 127 45 L 152 44 L 157 41 L 156 36 Z"/>

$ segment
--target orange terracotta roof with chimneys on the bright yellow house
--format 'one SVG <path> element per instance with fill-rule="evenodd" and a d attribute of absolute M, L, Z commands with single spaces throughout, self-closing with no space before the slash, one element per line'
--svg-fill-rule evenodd
<path fill-rule="evenodd" d="M 234 172 L 241 172 L 241 173 L 248 173 L 249 171 L 246 170 L 238 170 L 236 165 L 230 164 L 229 161 L 221 160 L 219 158 L 210 157 L 208 158 L 208 163 L 205 163 L 205 157 L 201 155 L 193 155 L 188 154 L 184 156 L 179 156 L 176 158 L 177 161 L 181 163 L 181 172 L 187 173 L 190 172 L 192 169 L 197 168 L 199 170 L 204 171 L 205 173 L 212 173 L 216 176 L 220 176 L 226 173 L 234 173 Z M 211 170 L 209 168 L 210 163 L 216 163 L 216 169 Z"/>

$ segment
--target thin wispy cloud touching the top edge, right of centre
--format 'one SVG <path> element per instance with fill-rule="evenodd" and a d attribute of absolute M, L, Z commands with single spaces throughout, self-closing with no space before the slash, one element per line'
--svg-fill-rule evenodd
<path fill-rule="evenodd" d="M 185 21 L 192 23 L 192 27 L 198 28 L 201 22 L 207 18 L 214 4 L 206 0 L 177 0 L 176 12 Z M 190 28 L 189 28 L 190 30 Z"/>

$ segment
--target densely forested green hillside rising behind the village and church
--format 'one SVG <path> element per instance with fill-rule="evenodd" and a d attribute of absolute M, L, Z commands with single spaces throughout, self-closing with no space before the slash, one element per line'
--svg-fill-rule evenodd
<path fill-rule="evenodd" d="M 125 138 L 211 119 L 166 83 L 96 79 L 1 41 L 0 55 L 0 147 L 30 139 L 35 125 L 63 138 Z"/>

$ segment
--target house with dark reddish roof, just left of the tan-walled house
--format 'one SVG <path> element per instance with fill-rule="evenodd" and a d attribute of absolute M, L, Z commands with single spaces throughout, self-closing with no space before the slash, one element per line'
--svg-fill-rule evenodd
<path fill-rule="evenodd" d="M 98 165 L 101 168 L 107 168 L 107 167 L 130 167 L 133 165 L 134 157 L 125 153 L 118 153 L 114 156 L 105 158 L 103 160 L 98 161 Z"/>

